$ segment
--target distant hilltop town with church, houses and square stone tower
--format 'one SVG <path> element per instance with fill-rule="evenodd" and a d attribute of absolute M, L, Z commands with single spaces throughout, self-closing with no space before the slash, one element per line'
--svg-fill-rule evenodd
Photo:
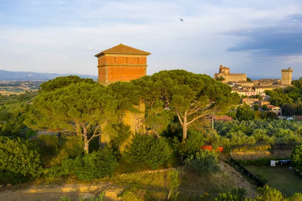
<path fill-rule="evenodd" d="M 242 97 L 242 103 L 248 104 L 252 108 L 258 105 L 262 108 L 263 105 L 267 106 L 267 111 L 273 111 L 278 116 L 282 115 L 280 107 L 270 105 L 269 96 L 265 91 L 271 91 L 276 88 L 285 88 L 291 85 L 292 69 L 282 69 L 281 79 L 261 79 L 261 80 L 248 80 L 246 74 L 231 74 L 230 68 L 223 65 L 219 66 L 219 73 L 214 74 L 214 79 L 219 80 L 232 87 L 232 93 L 238 93 Z M 258 94 L 258 98 L 256 98 Z M 260 99 L 259 99 L 260 97 Z"/>

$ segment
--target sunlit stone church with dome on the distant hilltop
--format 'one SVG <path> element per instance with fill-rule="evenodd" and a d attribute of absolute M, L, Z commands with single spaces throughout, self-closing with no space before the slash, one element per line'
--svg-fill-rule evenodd
<path fill-rule="evenodd" d="M 247 75 L 245 73 L 230 73 L 230 68 L 223 65 L 219 66 L 219 73 L 214 74 L 215 80 L 220 77 L 224 79 L 222 83 L 247 81 Z"/>

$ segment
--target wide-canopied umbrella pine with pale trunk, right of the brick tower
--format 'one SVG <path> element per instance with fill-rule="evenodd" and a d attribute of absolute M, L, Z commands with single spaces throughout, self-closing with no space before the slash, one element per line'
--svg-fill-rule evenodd
<path fill-rule="evenodd" d="M 110 88 L 127 97 L 139 110 L 145 102 L 144 115 L 138 113 L 135 118 L 137 133 L 146 125 L 157 135 L 173 119 L 169 115 L 172 112 L 182 127 L 183 141 L 188 129 L 199 123 L 197 120 L 212 112 L 223 113 L 240 99 L 228 85 L 184 70 L 161 71 L 129 83 L 114 83 Z"/>

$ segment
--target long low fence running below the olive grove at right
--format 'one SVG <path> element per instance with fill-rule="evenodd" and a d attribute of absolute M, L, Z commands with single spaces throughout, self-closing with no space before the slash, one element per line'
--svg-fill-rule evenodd
<path fill-rule="evenodd" d="M 285 144 L 285 143 L 278 143 L 276 144 L 274 150 L 292 150 L 295 148 L 298 143 L 292 144 Z M 265 145 L 265 144 L 258 144 L 258 145 L 235 145 L 232 146 L 232 152 L 254 152 L 254 151 L 266 151 L 266 150 L 273 150 L 272 146 Z"/>

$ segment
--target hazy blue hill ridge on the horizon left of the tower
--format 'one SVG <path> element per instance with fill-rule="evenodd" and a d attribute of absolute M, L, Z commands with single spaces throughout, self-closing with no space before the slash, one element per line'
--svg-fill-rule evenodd
<path fill-rule="evenodd" d="M 0 81 L 1 80 L 25 80 L 25 81 L 33 81 L 33 80 L 51 80 L 56 77 L 61 76 L 79 76 L 81 78 L 92 78 L 94 80 L 98 79 L 98 76 L 90 76 L 90 75 L 79 75 L 79 74 L 56 74 L 56 73 L 35 73 L 35 72 L 12 72 L 12 71 L 4 71 L 0 70 Z"/>

